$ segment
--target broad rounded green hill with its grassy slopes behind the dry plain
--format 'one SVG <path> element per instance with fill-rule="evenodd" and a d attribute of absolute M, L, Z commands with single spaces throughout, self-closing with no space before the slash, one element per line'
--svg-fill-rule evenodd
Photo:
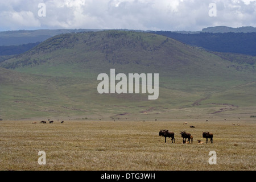
<path fill-rule="evenodd" d="M 0 118 L 175 117 L 176 111 L 187 115 L 187 108 L 212 114 L 221 105 L 232 108 L 227 113 L 244 112 L 255 107 L 256 74 L 243 63 L 144 32 L 56 35 L 0 64 Z M 97 76 L 112 68 L 116 74 L 159 73 L 158 100 L 99 94 Z"/>

